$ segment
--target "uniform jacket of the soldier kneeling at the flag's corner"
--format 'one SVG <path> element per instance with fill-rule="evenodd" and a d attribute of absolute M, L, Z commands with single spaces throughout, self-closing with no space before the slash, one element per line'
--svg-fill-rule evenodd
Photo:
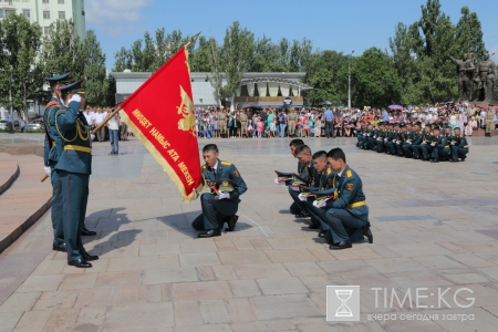
<path fill-rule="evenodd" d="M 240 173 L 237 170 L 237 167 L 230 162 L 221 162 L 218 159 L 216 175 L 212 172 L 212 168 L 207 165 L 203 165 L 201 172 L 203 178 L 207 186 L 214 185 L 220 178 L 228 178 L 237 184 L 237 188 L 235 188 L 234 191 L 229 193 L 230 194 L 229 200 L 239 203 L 240 201 L 239 196 L 247 191 L 246 183 L 240 176 Z"/>

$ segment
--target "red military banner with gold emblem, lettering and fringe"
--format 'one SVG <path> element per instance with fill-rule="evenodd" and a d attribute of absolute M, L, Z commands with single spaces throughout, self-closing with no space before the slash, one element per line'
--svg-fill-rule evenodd
<path fill-rule="evenodd" d="M 122 104 L 122 120 L 163 166 L 184 203 L 203 190 L 188 51 L 181 48 Z"/>

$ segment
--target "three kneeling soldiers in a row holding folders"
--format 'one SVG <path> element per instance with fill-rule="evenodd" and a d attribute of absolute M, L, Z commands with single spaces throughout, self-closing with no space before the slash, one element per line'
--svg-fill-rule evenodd
<path fill-rule="evenodd" d="M 352 247 L 353 241 L 373 242 L 369 207 L 360 176 L 346 164 L 341 148 L 314 154 L 302 139 L 290 143 L 291 154 L 299 159 L 293 175 L 277 172 L 276 183 L 287 185 L 293 200 L 290 212 L 295 218 L 310 218 L 310 229 L 330 243 L 331 250 Z"/>

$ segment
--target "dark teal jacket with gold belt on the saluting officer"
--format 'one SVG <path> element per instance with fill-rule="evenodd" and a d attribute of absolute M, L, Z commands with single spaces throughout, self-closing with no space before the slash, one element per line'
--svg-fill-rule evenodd
<path fill-rule="evenodd" d="M 55 113 L 55 129 L 63 148 L 55 169 L 70 173 L 92 174 L 91 129 L 80 112 L 80 103 L 71 102 Z"/>

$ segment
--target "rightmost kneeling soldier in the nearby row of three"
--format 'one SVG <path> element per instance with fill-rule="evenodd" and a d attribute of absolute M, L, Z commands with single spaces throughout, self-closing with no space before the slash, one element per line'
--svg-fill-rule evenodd
<path fill-rule="evenodd" d="M 341 250 L 353 247 L 352 241 L 363 240 L 373 242 L 369 222 L 369 207 L 365 204 L 363 184 L 360 176 L 346 164 L 345 154 L 341 148 L 333 148 L 326 154 L 326 159 L 336 173 L 334 188 L 338 197 L 328 200 L 323 206 L 313 203 L 315 207 L 326 205 L 325 219 L 329 224 L 332 241 L 332 250 Z"/>

